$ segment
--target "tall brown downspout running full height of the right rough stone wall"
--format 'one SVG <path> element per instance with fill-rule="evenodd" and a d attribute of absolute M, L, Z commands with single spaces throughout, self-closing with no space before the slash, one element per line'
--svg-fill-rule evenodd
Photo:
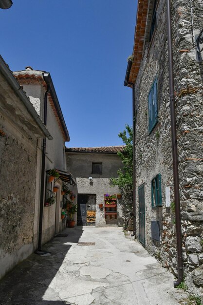
<path fill-rule="evenodd" d="M 182 253 L 182 234 L 181 234 L 181 209 L 180 209 L 179 174 L 178 174 L 178 150 L 177 150 L 177 134 L 176 134 L 176 114 L 175 114 L 170 0 L 166 0 L 166 6 L 167 6 L 167 37 L 168 37 L 171 138 L 172 138 L 172 154 L 173 154 L 173 183 L 174 183 L 174 197 L 175 197 L 177 267 L 178 267 L 178 279 L 173 284 L 174 284 L 174 287 L 176 287 L 181 282 L 183 282 L 183 253 Z"/>

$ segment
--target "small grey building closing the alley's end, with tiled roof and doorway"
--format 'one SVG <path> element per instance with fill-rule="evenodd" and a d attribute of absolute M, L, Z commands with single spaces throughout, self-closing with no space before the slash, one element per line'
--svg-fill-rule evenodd
<path fill-rule="evenodd" d="M 67 169 L 76 180 L 73 192 L 76 195 L 74 203 L 77 202 L 77 225 L 123 225 L 122 199 L 116 198 L 116 216 L 105 215 L 109 209 L 105 208 L 104 201 L 104 194 L 119 193 L 117 187 L 110 186 L 110 178 L 117 177 L 118 169 L 123 167 L 117 155 L 123 147 L 66 148 Z M 100 208 L 99 204 L 103 204 L 103 207 Z"/>

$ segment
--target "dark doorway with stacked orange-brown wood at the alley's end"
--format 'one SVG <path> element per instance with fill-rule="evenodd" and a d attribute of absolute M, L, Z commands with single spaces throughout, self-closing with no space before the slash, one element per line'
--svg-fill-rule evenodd
<path fill-rule="evenodd" d="M 77 195 L 77 226 L 95 226 L 96 194 Z"/>

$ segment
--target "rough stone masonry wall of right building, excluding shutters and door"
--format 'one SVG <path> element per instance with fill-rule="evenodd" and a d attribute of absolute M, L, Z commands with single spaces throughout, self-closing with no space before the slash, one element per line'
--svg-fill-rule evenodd
<path fill-rule="evenodd" d="M 193 7 L 195 29 L 200 32 L 203 4 L 193 2 L 196 4 Z M 190 291 L 202 294 L 203 66 L 195 59 L 188 1 L 176 0 L 171 3 L 184 272 Z M 150 43 L 147 40 L 148 32 L 149 27 L 135 83 L 136 194 L 137 187 L 145 183 L 146 248 L 177 274 L 175 217 L 173 210 L 166 208 L 165 200 L 165 188 L 169 186 L 170 199 L 174 201 L 165 1 L 158 2 L 157 28 Z M 158 124 L 149 134 L 148 93 L 155 77 L 158 84 Z M 163 206 L 152 208 L 151 180 L 158 173 L 161 174 Z M 136 203 L 139 239 L 138 194 Z M 152 220 L 160 224 L 159 243 L 151 239 Z"/>

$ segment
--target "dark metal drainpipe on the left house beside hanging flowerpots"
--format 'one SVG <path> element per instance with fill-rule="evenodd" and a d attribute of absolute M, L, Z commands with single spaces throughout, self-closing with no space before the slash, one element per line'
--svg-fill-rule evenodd
<path fill-rule="evenodd" d="M 44 95 L 44 125 L 47 125 L 47 98 L 50 91 L 50 85 L 47 86 L 47 91 Z M 36 254 L 45 253 L 41 249 L 42 243 L 42 227 L 43 227 L 43 211 L 44 211 L 44 178 L 45 178 L 45 158 L 46 158 L 46 138 L 42 143 L 42 160 L 41 160 L 41 188 L 40 188 L 40 208 L 39 208 L 39 232 L 38 232 L 38 248 Z"/>

